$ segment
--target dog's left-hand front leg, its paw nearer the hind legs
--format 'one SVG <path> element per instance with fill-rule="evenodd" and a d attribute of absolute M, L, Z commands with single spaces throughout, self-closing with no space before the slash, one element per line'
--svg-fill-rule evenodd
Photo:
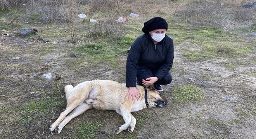
<path fill-rule="evenodd" d="M 131 124 L 131 111 L 125 110 L 121 107 L 120 110 L 116 110 L 116 112 L 122 115 L 123 119 L 125 120 L 125 124 L 115 129 L 115 134 L 119 134 L 121 131 L 128 129 L 129 125 Z"/>

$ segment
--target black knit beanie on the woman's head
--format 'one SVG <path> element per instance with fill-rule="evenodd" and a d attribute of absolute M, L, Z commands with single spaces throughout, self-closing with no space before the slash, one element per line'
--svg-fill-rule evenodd
<path fill-rule="evenodd" d="M 147 22 L 144 23 L 144 27 L 142 28 L 142 32 L 148 33 L 149 31 L 153 31 L 155 29 L 168 29 L 168 24 L 166 20 L 162 17 L 154 17 Z"/>

